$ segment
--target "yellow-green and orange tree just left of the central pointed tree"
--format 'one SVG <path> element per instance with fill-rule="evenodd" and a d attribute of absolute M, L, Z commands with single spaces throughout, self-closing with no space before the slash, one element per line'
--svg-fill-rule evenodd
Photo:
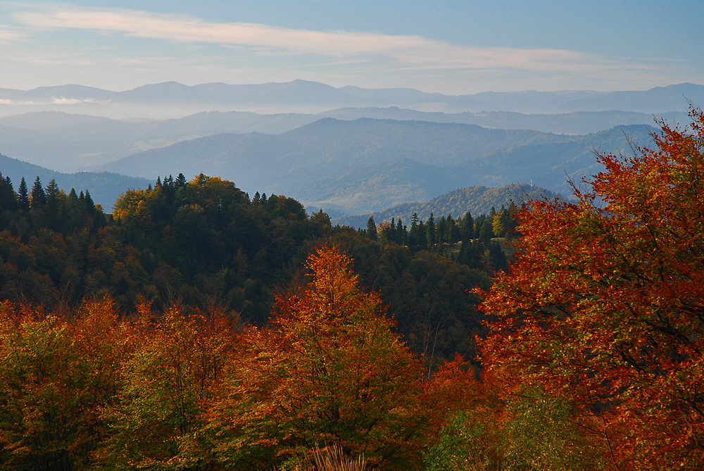
<path fill-rule="evenodd" d="M 191 437 L 201 402 L 217 385 L 232 343 L 232 318 L 217 309 L 187 315 L 171 306 L 153 320 L 149 303 L 127 335 L 122 385 L 102 415 L 109 436 L 99 457 L 118 469 L 197 469 Z"/>

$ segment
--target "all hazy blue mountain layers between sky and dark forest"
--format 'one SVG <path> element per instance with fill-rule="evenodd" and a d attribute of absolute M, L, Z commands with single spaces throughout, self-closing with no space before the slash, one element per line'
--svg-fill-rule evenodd
<path fill-rule="evenodd" d="M 86 187 L 106 208 L 127 187 L 178 172 L 334 216 L 517 182 L 570 194 L 567 180 L 601 170 L 595 149 L 647 146 L 653 118 L 689 122 L 688 99 L 704 103 L 704 86 L 464 96 L 303 80 L 0 89 L 0 152 L 19 159 L 3 157 L 0 171 L 15 183 L 39 175 Z"/>

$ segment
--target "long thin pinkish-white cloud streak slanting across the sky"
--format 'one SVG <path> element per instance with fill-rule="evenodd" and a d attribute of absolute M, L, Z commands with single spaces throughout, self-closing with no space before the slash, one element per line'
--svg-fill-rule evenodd
<path fill-rule="evenodd" d="M 340 60 L 390 58 L 417 69 L 498 69 L 594 73 L 642 68 L 560 49 L 473 47 L 414 35 L 375 32 L 294 30 L 255 23 L 212 23 L 187 15 L 164 15 L 114 8 L 43 6 L 13 18 L 37 30 L 77 29 L 101 34 L 246 47 L 253 54 L 313 54 Z M 0 29 L 0 38 L 2 30 Z"/>

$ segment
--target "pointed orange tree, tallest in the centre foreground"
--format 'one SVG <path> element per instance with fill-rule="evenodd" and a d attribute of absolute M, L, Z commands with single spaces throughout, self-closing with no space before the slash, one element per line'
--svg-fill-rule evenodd
<path fill-rule="evenodd" d="M 251 469 L 332 445 L 382 468 L 417 458 L 420 362 L 350 265 L 322 247 L 270 328 L 241 336 L 209 413 L 220 462 Z"/>

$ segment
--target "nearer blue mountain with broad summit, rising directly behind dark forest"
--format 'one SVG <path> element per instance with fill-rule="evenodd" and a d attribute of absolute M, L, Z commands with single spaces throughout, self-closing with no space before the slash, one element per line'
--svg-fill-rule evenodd
<path fill-rule="evenodd" d="M 379 211 L 467 185 L 533 179 L 568 192 L 565 175 L 596 170 L 593 148 L 625 152 L 629 135 L 648 144 L 647 126 L 586 136 L 474 125 L 332 118 L 283 134 L 218 134 L 102 165 L 96 170 L 156 178 L 165 172 L 219 175 L 245 191 L 286 194 L 333 214 Z M 165 170 L 168 169 L 168 170 Z"/>

